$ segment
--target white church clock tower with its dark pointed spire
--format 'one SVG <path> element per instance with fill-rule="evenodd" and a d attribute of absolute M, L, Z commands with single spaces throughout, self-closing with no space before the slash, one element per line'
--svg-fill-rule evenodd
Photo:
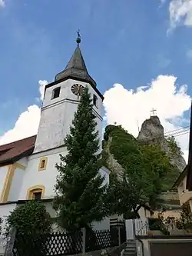
<path fill-rule="evenodd" d="M 103 95 L 96 87 L 96 82 L 84 63 L 79 44 L 74 50 L 66 68 L 55 76 L 55 81 L 45 86 L 45 97 L 41 108 L 41 119 L 34 153 L 58 148 L 64 144 L 64 138 L 69 133 L 74 113 L 77 111 L 79 97 L 85 86 L 88 86 L 93 100 L 93 111 L 97 117 L 99 138 L 102 136 L 102 101 Z"/>

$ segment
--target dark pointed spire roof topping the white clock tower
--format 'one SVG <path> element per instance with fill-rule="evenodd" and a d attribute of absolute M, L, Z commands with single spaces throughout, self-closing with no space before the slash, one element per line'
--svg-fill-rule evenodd
<path fill-rule="evenodd" d="M 81 49 L 79 48 L 79 44 L 81 42 L 81 38 L 79 36 L 76 42 L 78 43 L 78 46 L 74 50 L 74 54 L 72 55 L 66 68 L 55 76 L 55 81 L 73 78 L 75 80 L 86 81 L 91 85 L 96 86 L 96 82 L 88 74 L 88 69 L 84 63 L 84 58 L 81 54 Z"/>

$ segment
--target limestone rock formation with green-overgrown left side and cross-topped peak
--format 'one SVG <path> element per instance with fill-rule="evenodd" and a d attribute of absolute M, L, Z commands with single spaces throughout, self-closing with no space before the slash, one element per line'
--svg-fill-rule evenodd
<path fill-rule="evenodd" d="M 138 138 L 134 138 L 120 126 L 108 125 L 105 128 L 102 156 L 104 165 L 121 177 L 124 170 L 134 173 L 141 167 L 143 153 L 141 148 L 148 144 L 157 144 L 170 158 L 170 163 L 176 168 L 167 173 L 164 179 L 164 193 L 161 194 L 166 203 L 166 208 L 177 209 L 180 207 L 177 191 L 170 191 L 176 181 L 179 171 L 183 171 L 186 163 L 180 148 L 174 138 L 164 137 L 164 127 L 157 116 L 144 121 Z"/>

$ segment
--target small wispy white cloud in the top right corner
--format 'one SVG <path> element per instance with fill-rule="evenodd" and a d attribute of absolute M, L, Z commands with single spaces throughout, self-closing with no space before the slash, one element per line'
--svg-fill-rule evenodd
<path fill-rule="evenodd" d="M 180 24 L 192 26 L 192 0 L 171 0 L 169 14 L 170 28 Z"/>

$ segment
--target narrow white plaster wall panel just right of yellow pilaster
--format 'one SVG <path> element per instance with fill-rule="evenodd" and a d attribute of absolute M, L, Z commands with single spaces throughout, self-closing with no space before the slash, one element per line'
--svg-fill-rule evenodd
<path fill-rule="evenodd" d="M 8 195 L 8 201 L 18 201 L 24 175 L 25 170 L 19 168 L 15 169 L 12 185 Z"/>

